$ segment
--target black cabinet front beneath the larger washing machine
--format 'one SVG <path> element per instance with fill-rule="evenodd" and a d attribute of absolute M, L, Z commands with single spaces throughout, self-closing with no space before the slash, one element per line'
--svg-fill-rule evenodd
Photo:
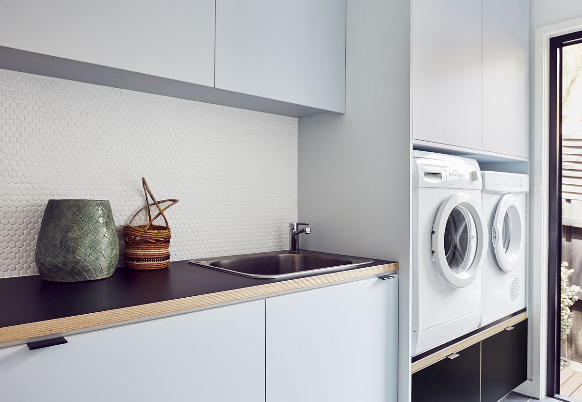
<path fill-rule="evenodd" d="M 444 358 L 412 375 L 412 402 L 480 402 L 481 344 Z"/>

